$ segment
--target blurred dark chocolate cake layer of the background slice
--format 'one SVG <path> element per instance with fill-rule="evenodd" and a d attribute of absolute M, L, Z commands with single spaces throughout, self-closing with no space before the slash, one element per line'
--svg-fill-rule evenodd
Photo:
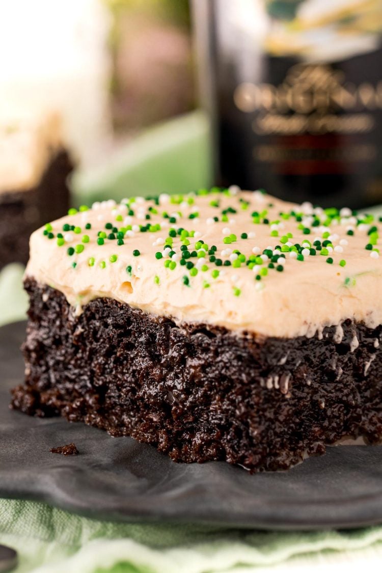
<path fill-rule="evenodd" d="M 10 262 L 26 264 L 30 234 L 50 219 L 67 213 L 66 180 L 72 168 L 63 150 L 52 159 L 37 187 L 0 194 L 0 269 Z"/>

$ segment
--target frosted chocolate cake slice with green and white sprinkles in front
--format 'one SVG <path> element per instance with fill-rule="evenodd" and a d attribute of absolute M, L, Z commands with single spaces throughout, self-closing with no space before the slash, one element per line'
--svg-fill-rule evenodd
<path fill-rule="evenodd" d="M 232 188 L 80 211 L 31 237 L 14 408 L 251 470 L 382 441 L 379 221 Z"/>

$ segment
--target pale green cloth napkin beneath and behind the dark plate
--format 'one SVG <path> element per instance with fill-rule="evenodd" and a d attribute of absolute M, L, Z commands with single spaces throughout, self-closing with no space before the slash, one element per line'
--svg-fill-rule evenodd
<path fill-rule="evenodd" d="M 75 201 L 188 191 L 210 185 L 208 125 L 194 113 L 128 144 L 98 175 L 73 179 Z M 21 265 L 0 273 L 0 324 L 25 317 Z M 260 532 L 195 524 L 118 524 L 47 504 L 0 500 L 0 543 L 19 554 L 18 573 L 349 573 L 380 570 L 382 527 L 348 532 Z M 375 568 L 373 568 L 375 565 Z"/>

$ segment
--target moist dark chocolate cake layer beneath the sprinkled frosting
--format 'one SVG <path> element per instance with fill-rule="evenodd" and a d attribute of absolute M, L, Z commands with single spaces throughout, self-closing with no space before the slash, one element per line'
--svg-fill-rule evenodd
<path fill-rule="evenodd" d="M 343 437 L 382 441 L 382 326 L 238 336 L 112 299 L 76 316 L 27 278 L 26 379 L 12 407 L 152 444 L 172 460 L 286 469 Z"/>

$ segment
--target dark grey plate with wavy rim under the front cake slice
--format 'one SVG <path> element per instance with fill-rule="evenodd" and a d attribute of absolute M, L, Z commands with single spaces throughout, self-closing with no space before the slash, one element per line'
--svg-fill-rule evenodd
<path fill-rule="evenodd" d="M 44 500 L 109 520 L 318 529 L 382 523 L 382 446 L 329 448 L 289 472 L 225 462 L 175 464 L 151 446 L 9 409 L 22 380 L 25 323 L 0 329 L 0 496 Z M 75 442 L 79 456 L 49 453 Z"/>

